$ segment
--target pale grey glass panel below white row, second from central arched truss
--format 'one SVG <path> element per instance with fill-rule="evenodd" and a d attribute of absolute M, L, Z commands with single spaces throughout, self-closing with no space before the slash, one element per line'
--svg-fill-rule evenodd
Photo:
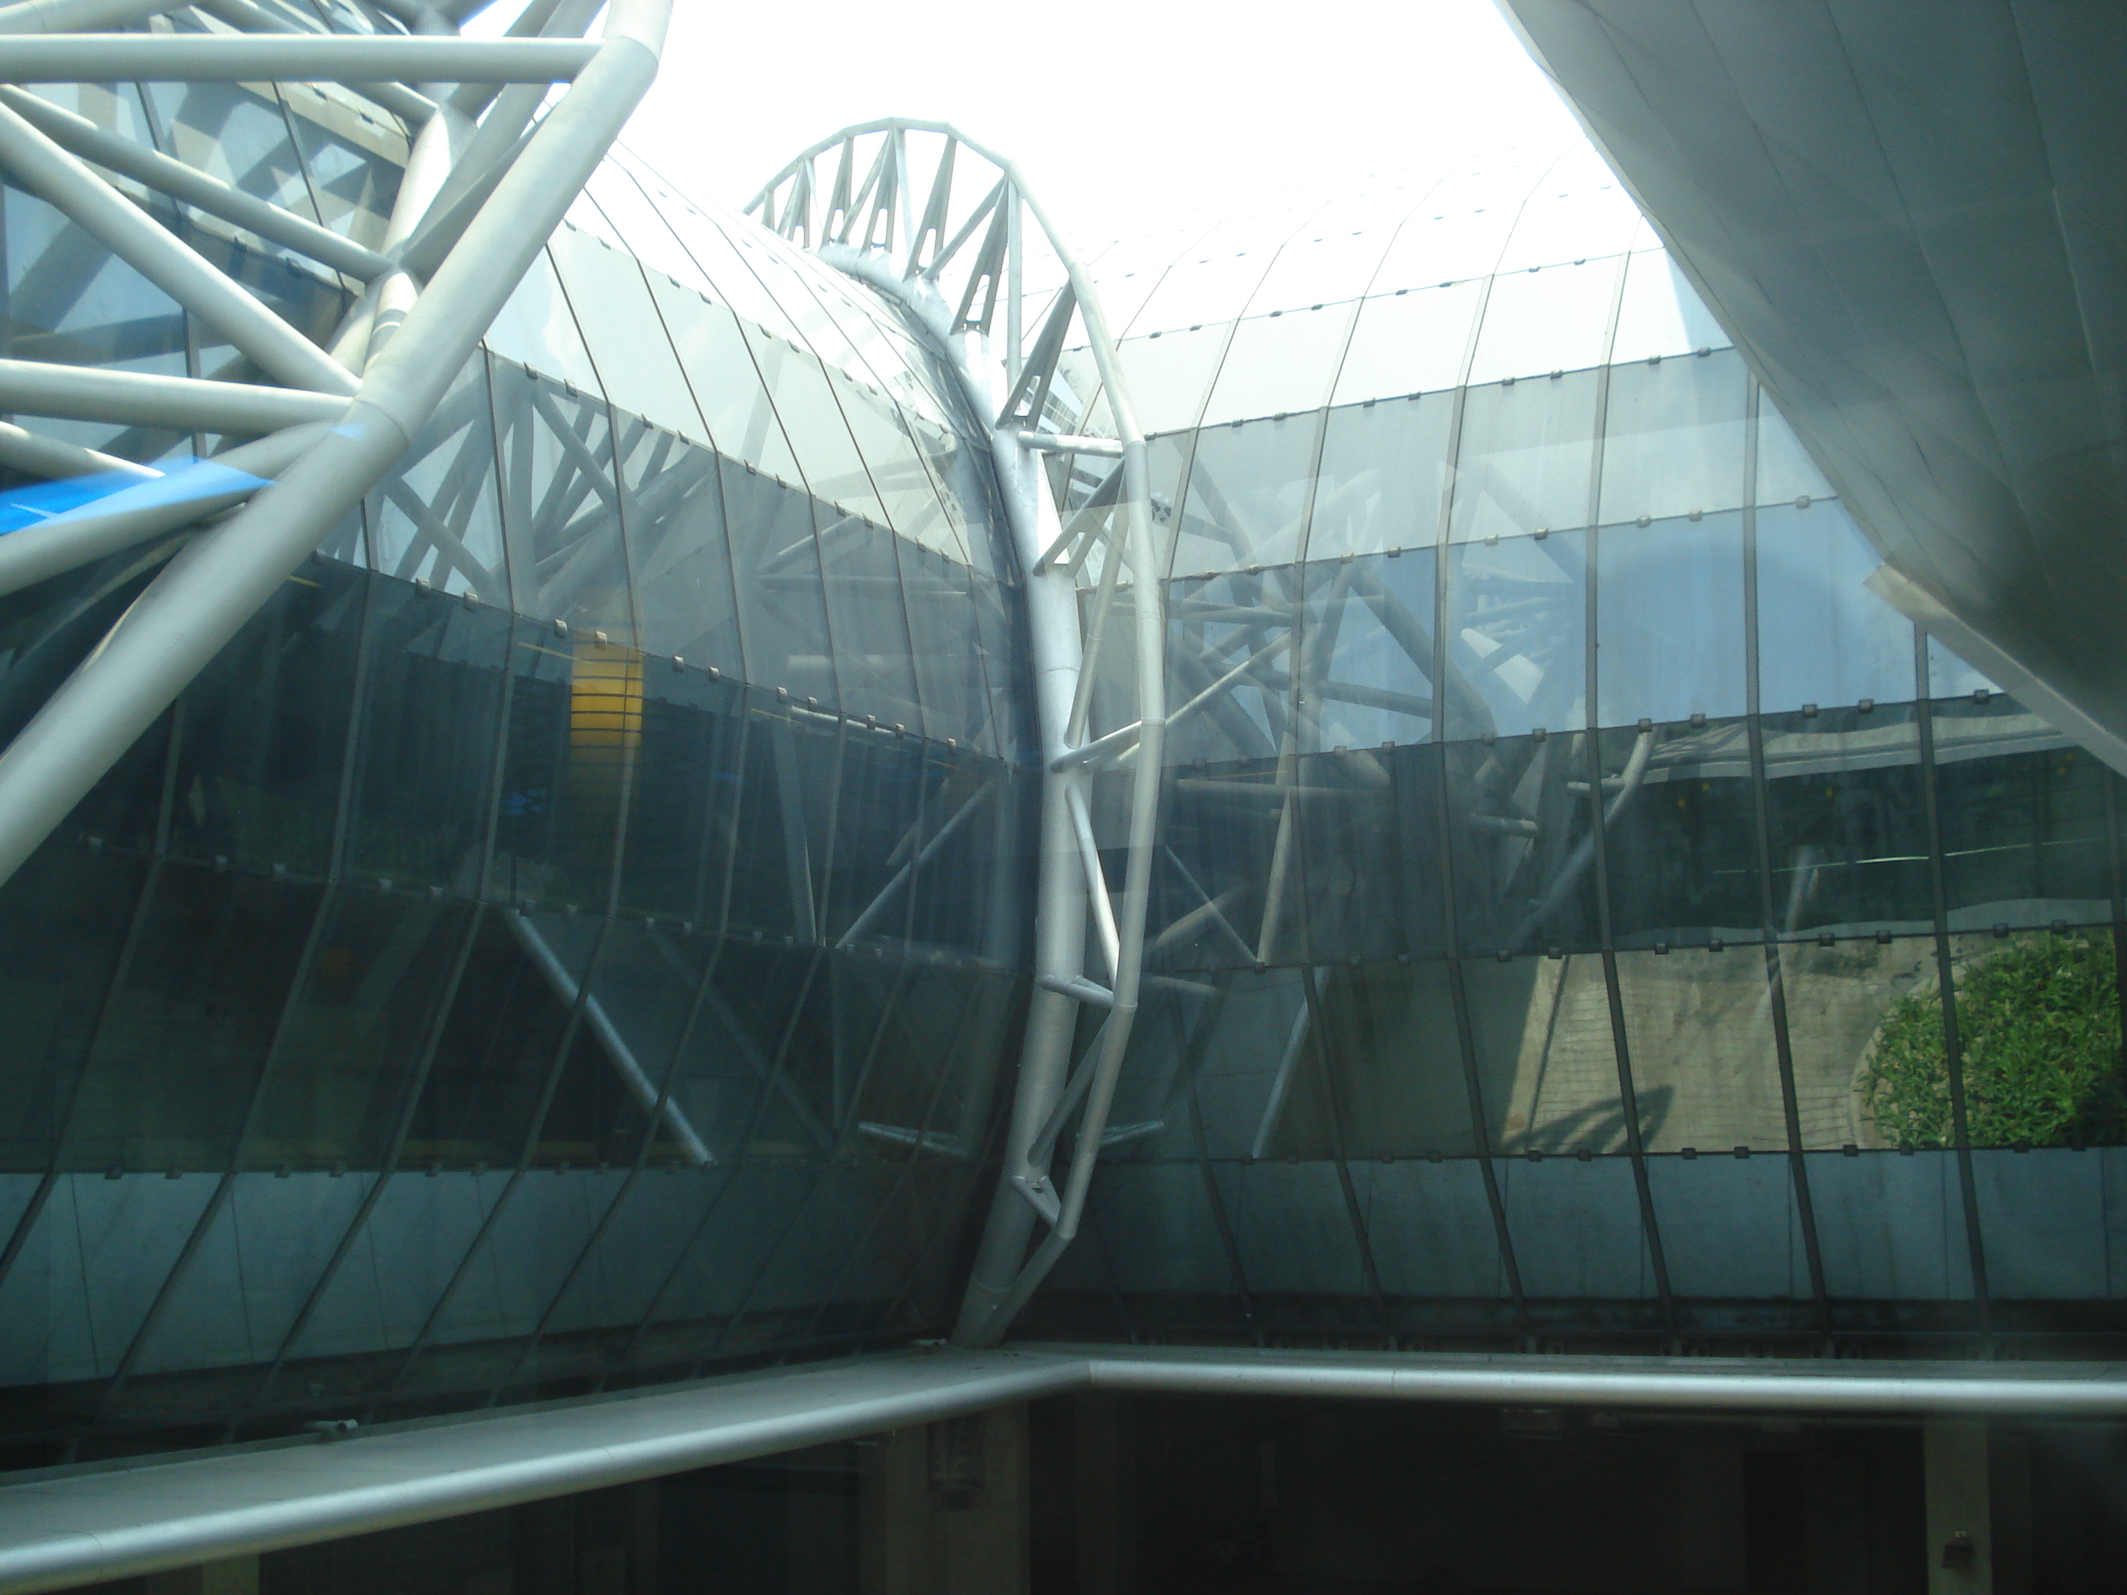
<path fill-rule="evenodd" d="M 1308 557 L 1423 549 L 1440 536 L 1453 398 L 1329 410 Z"/>

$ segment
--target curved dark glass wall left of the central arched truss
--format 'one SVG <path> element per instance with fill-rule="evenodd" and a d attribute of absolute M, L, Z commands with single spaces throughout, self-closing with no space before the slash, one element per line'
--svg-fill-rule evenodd
<path fill-rule="evenodd" d="M 404 157 L 340 91 L 55 98 L 370 242 Z M 321 340 L 353 302 L 136 198 Z M 6 353 L 242 374 L 49 206 L 4 223 Z M 0 734 L 181 544 L 0 600 Z M 0 889 L 0 1457 L 942 1331 L 1025 995 L 1015 581 L 910 325 L 602 170 Z"/>

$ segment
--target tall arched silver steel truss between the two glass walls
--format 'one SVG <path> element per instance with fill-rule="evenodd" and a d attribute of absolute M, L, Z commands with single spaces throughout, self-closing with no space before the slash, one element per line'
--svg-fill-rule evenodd
<path fill-rule="evenodd" d="M 953 1336 L 987 1346 L 1078 1231 L 1093 1163 L 1112 1140 L 1108 1104 L 1138 1012 L 1166 732 L 1166 606 L 1144 436 L 1091 276 L 1019 168 L 949 123 L 887 119 L 844 128 L 785 166 L 747 213 L 891 293 L 936 334 L 991 425 L 1021 555 L 1044 766 L 1036 989 L 1004 1176 Z M 1087 413 L 1093 398 L 1064 391 L 1061 357 L 1074 345 L 1091 351 L 1102 389 L 1093 413 L 1106 413 L 1112 436 L 1074 436 L 1055 425 L 1057 417 Z M 1091 502 L 1064 521 L 1044 455 L 1115 466 Z M 1134 621 L 1129 687 L 1112 691 L 1108 681 L 1095 691 L 1104 666 L 1115 670 L 1119 604 Z M 1095 710 L 1108 695 L 1132 702 L 1108 710 L 1115 723 L 1102 727 Z M 1108 849 L 1095 827 L 1095 808 L 1110 808 L 1095 802 L 1104 774 L 1123 787 L 1112 804 L 1123 810 L 1123 836 L 1115 838 L 1121 846 Z M 1104 853 L 1121 853 L 1121 897 Z M 1081 1010 L 1100 1012 L 1083 1053 Z M 1066 1127 L 1072 1155 L 1059 1187 L 1053 1161 Z M 1029 1255 L 1036 1219 L 1049 1233 Z"/>

